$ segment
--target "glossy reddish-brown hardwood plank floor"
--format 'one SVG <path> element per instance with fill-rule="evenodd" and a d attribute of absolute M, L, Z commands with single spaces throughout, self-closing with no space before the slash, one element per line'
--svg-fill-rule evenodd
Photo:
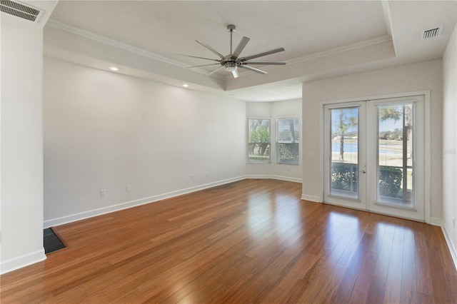
<path fill-rule="evenodd" d="M 244 180 L 56 227 L 1 303 L 457 303 L 441 228 Z"/>

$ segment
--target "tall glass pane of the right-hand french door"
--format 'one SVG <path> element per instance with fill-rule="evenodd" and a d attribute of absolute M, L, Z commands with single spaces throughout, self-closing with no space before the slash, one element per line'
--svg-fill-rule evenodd
<path fill-rule="evenodd" d="M 378 203 L 413 207 L 413 103 L 378 106 Z"/>

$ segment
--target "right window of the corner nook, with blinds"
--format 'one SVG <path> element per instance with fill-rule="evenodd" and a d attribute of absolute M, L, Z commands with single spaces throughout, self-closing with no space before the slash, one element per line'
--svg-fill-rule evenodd
<path fill-rule="evenodd" d="M 276 120 L 276 162 L 298 165 L 298 141 L 300 126 L 298 118 Z"/>

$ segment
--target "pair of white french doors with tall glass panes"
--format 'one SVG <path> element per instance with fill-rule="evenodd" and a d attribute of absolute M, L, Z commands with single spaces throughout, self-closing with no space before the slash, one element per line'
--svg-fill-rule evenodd
<path fill-rule="evenodd" d="M 324 106 L 324 202 L 425 220 L 423 96 Z"/>

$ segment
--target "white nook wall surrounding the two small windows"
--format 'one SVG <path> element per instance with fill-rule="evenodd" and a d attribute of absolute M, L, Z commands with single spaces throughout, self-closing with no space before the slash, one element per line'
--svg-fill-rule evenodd
<path fill-rule="evenodd" d="M 302 161 L 300 147 L 300 161 L 298 166 L 276 163 L 276 118 L 298 117 L 301 122 L 301 99 L 274 102 L 246 103 L 247 118 L 271 119 L 271 163 L 247 163 L 246 173 L 251 178 L 278 178 L 285 181 L 301 182 Z M 246 118 L 246 120 L 247 120 Z M 247 128 L 247 124 L 245 123 Z M 300 135 L 301 138 L 301 135 Z M 300 139 L 300 143 L 301 143 Z M 247 151 L 246 151 L 247 153 Z M 246 156 L 247 158 L 247 156 Z"/>

